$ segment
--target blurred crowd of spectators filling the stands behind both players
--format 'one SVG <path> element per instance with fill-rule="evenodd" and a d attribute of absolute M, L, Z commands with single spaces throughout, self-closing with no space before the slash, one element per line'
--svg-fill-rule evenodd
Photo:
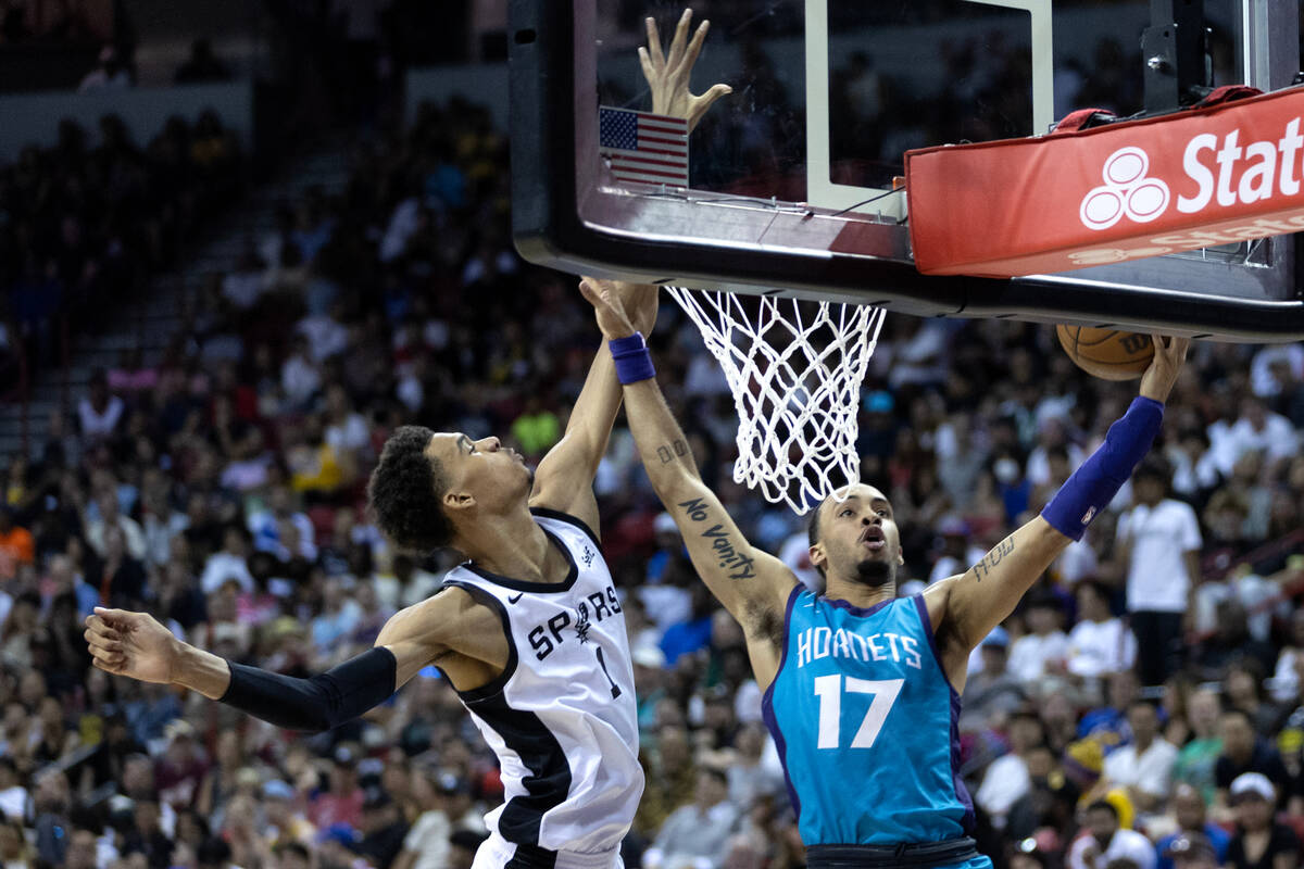
<path fill-rule="evenodd" d="M 0 201 L 81 231 L 56 236 L 81 241 L 70 253 L 38 253 L 20 242 L 44 224 L 9 224 L 30 225 L 0 236 L 34 254 L 17 280 L 76 292 L 87 262 L 111 271 L 91 253 L 106 228 L 130 227 L 124 250 L 159 255 L 193 218 L 179 205 L 189 188 L 163 173 L 189 167 L 184 151 L 154 163 L 116 147 L 77 151 L 85 177 L 61 150 L 0 175 Z M 68 189 L 99 189 L 100 163 L 137 180 L 130 219 L 64 205 Z M 8 459 L 7 868 L 469 865 L 501 786 L 437 674 L 364 720 L 287 734 L 106 676 L 81 621 L 98 603 L 146 610 L 216 654 L 306 675 L 438 588 L 454 556 L 394 552 L 368 517 L 385 438 L 406 422 L 497 434 L 537 460 L 599 345 L 575 280 L 514 253 L 505 165 L 503 135 L 463 102 L 359 145 L 343 192 L 286 203 L 237 267 L 210 276 L 162 360 L 124 356 L 31 455 Z M 651 340 L 703 478 L 818 586 L 803 520 L 732 479 L 733 401 L 691 323 L 668 304 Z M 1045 327 L 889 317 L 858 446 L 901 526 L 902 593 L 1035 515 L 1133 392 L 1078 371 Z M 961 762 L 998 865 L 1150 869 L 1206 851 L 1296 865 L 1301 430 L 1300 345 L 1197 345 L 1149 463 L 975 650 Z M 626 864 L 803 865 L 741 629 L 694 576 L 623 427 L 596 490 L 647 769 Z"/>

